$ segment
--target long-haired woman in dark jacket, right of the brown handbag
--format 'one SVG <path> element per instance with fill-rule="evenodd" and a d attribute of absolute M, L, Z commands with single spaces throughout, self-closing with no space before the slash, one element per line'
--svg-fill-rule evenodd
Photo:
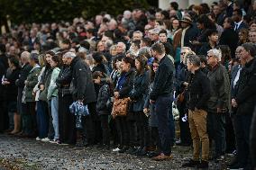
<path fill-rule="evenodd" d="M 145 96 L 150 85 L 150 73 L 147 66 L 148 58 L 140 55 L 135 58 L 136 76 L 134 78 L 133 91 L 130 98 L 133 101 L 136 125 L 139 130 L 140 147 L 135 152 L 137 156 L 145 156 L 149 146 L 149 120 L 143 112 Z"/>

